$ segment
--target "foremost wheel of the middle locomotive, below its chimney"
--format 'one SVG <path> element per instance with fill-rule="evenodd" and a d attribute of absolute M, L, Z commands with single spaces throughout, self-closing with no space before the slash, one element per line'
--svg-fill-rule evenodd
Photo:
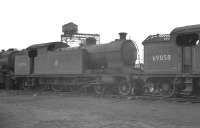
<path fill-rule="evenodd" d="M 119 82 L 118 91 L 120 95 L 127 96 L 131 93 L 131 90 L 131 84 L 129 84 L 125 80 Z"/>

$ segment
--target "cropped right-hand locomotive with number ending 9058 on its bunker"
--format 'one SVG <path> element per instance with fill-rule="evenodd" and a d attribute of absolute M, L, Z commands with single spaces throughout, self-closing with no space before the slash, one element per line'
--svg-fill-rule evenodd
<path fill-rule="evenodd" d="M 177 27 L 143 41 L 147 90 L 163 95 L 199 95 L 200 25 Z"/>

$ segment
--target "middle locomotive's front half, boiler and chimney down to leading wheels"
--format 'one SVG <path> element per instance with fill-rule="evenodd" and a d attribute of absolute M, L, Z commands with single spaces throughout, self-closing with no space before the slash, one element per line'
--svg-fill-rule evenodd
<path fill-rule="evenodd" d="M 107 44 L 86 47 L 89 54 L 88 68 L 100 75 L 95 86 L 97 94 L 109 87 L 118 88 L 121 95 L 128 95 L 132 90 L 131 76 L 137 59 L 137 47 L 132 40 L 126 39 L 126 33 L 119 33 L 120 39 Z"/>

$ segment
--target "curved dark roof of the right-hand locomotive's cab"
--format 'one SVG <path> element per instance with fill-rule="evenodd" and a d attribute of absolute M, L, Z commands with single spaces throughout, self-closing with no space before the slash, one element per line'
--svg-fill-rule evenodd
<path fill-rule="evenodd" d="M 171 31 L 170 35 L 195 32 L 200 32 L 200 24 L 177 27 Z"/>

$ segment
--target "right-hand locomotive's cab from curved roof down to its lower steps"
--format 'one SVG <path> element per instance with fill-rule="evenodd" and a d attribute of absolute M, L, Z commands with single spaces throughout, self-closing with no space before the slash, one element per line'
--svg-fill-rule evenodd
<path fill-rule="evenodd" d="M 179 51 L 181 73 L 188 74 L 179 78 L 178 81 L 182 81 L 181 84 L 184 85 L 184 91 L 189 90 L 193 94 L 200 92 L 199 34 L 200 25 L 178 27 L 171 32 Z"/>

